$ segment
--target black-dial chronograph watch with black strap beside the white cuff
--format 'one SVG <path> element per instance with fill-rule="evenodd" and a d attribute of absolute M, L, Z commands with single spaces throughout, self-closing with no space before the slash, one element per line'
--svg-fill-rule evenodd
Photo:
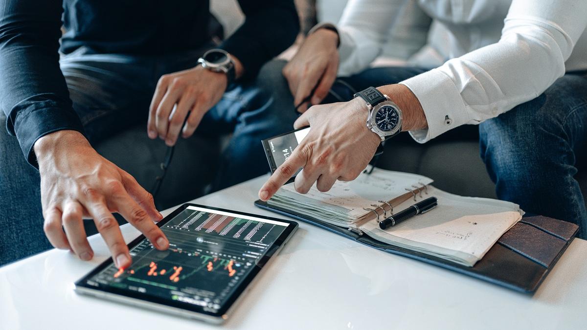
<path fill-rule="evenodd" d="M 402 110 L 375 87 L 369 87 L 355 94 L 367 102 L 369 116 L 367 128 L 385 141 L 402 130 Z"/>

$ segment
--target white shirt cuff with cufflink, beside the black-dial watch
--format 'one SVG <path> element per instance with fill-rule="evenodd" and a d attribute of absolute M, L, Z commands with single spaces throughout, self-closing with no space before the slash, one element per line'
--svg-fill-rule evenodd
<path fill-rule="evenodd" d="M 446 73 L 432 69 L 400 83 L 416 95 L 428 122 L 428 129 L 410 131 L 416 142 L 428 142 L 469 122 L 463 97 Z"/>

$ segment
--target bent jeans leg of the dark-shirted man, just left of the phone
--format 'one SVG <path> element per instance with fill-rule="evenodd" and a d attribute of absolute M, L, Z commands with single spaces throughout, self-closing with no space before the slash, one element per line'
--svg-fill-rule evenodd
<path fill-rule="evenodd" d="M 230 187 L 269 171 L 261 140 L 294 129 L 294 99 L 281 74 L 283 60 L 272 60 L 256 80 L 228 91 L 204 119 L 196 134 L 232 132 L 222 153 L 213 189 Z"/>

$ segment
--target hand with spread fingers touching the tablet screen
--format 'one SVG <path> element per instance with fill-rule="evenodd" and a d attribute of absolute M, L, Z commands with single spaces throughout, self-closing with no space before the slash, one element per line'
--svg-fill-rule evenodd
<path fill-rule="evenodd" d="M 129 249 L 113 212 L 123 215 L 158 250 L 169 246 L 153 223 L 163 218 L 153 196 L 129 173 L 100 156 L 82 134 L 72 130 L 50 133 L 37 140 L 34 148 L 41 174 L 44 229 L 53 247 L 69 249 L 80 259 L 90 260 L 93 251 L 82 221 L 82 217 L 90 217 L 116 267 L 128 267 Z"/>

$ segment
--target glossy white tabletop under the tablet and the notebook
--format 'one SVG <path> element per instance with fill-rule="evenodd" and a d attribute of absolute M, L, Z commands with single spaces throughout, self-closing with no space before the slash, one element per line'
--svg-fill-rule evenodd
<path fill-rule="evenodd" d="M 265 178 L 193 202 L 281 217 L 253 205 Z M 127 241 L 139 235 L 130 225 L 122 231 Z M 89 241 L 95 251 L 90 262 L 51 250 L 0 268 L 0 329 L 220 328 L 77 295 L 73 282 L 108 254 L 98 235 Z M 225 328 L 587 327 L 587 241 L 579 239 L 533 297 L 377 251 L 305 223 L 269 266 Z"/>

